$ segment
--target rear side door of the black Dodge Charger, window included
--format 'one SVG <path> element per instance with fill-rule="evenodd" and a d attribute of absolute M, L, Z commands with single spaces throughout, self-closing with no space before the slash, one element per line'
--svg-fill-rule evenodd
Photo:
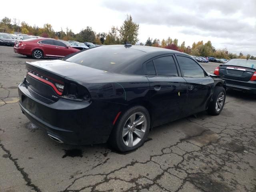
<path fill-rule="evenodd" d="M 187 86 L 180 75 L 174 56 L 158 56 L 144 63 L 143 67 L 150 82 L 154 126 L 183 117 Z"/>

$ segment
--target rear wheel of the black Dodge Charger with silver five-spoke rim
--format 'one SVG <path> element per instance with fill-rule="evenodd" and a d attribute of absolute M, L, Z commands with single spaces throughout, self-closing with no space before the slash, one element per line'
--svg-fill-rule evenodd
<path fill-rule="evenodd" d="M 150 129 L 150 115 L 143 106 L 134 106 L 122 114 L 109 138 L 110 145 L 120 151 L 134 150 L 144 143 Z"/>

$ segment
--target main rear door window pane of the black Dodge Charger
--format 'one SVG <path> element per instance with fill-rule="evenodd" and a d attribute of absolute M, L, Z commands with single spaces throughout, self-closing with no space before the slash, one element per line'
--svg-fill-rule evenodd
<path fill-rule="evenodd" d="M 157 75 L 178 76 L 176 64 L 172 56 L 154 59 Z"/>

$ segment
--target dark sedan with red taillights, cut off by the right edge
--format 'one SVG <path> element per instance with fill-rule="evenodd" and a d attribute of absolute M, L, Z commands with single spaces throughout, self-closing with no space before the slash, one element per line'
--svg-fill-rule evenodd
<path fill-rule="evenodd" d="M 231 59 L 214 70 L 229 89 L 256 94 L 256 60 Z"/>

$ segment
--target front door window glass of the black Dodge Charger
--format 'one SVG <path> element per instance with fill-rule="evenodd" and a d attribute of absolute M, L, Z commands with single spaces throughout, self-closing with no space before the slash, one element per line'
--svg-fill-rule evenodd
<path fill-rule="evenodd" d="M 204 70 L 191 58 L 177 56 L 184 77 L 205 77 Z"/>

